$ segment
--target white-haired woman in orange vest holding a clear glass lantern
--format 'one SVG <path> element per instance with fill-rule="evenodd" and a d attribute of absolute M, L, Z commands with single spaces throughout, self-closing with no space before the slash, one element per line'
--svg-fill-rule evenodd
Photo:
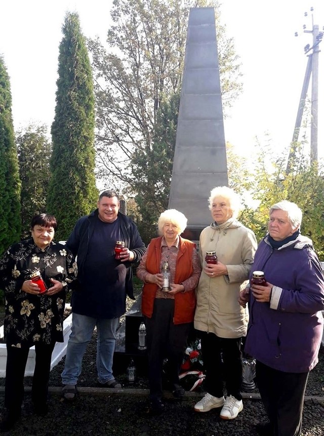
<path fill-rule="evenodd" d="M 186 217 L 175 209 L 161 213 L 158 219 L 160 236 L 151 240 L 137 268 L 144 282 L 142 313 L 147 329 L 149 363 L 150 409 L 163 410 L 161 374 L 163 361 L 168 358 L 169 379 L 176 398 L 184 395 L 179 371 L 195 311 L 194 290 L 201 272 L 195 244 L 180 234 L 187 225 Z M 170 289 L 163 290 L 161 273 L 168 262 L 171 273 Z"/>

